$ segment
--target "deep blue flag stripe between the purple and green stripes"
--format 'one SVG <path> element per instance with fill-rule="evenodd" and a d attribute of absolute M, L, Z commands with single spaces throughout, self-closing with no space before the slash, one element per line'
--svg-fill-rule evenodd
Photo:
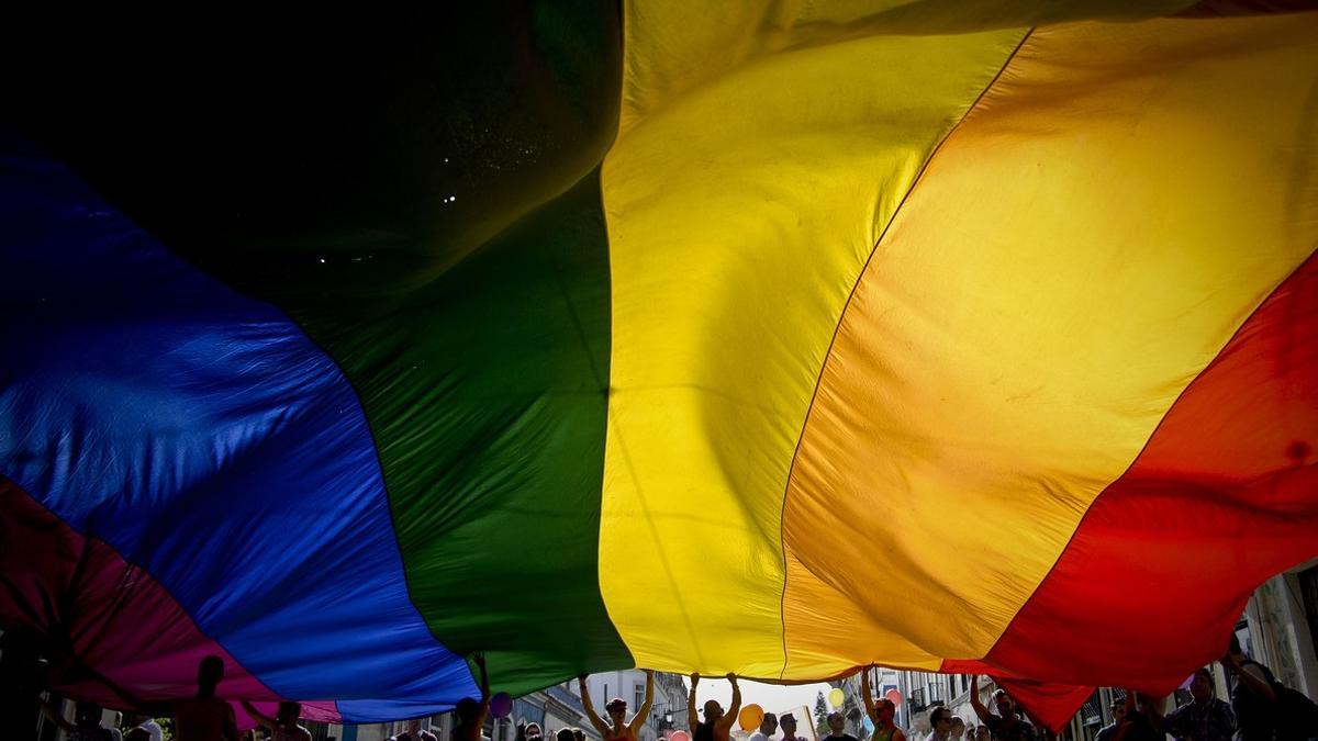
<path fill-rule="evenodd" d="M 3 133 L 0 235 L 0 473 L 286 697 L 366 721 L 477 692 L 409 599 L 352 388 L 287 316 Z"/>

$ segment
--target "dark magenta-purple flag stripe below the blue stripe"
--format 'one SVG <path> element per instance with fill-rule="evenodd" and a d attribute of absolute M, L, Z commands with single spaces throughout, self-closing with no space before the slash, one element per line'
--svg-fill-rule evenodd
<path fill-rule="evenodd" d="M 270 709 L 282 699 L 202 634 L 149 574 L 4 477 L 0 513 L 0 626 L 55 646 L 55 690 L 124 709 L 113 687 L 132 687 L 142 700 L 186 697 L 196 692 L 196 665 L 216 655 L 225 667 L 221 696 L 264 700 Z M 339 720 L 332 701 L 303 708 L 304 717 Z"/>

